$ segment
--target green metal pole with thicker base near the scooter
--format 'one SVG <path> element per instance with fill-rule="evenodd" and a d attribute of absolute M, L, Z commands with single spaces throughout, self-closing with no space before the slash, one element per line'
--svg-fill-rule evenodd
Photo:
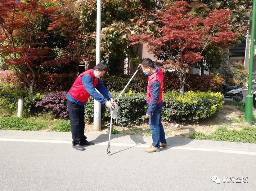
<path fill-rule="evenodd" d="M 254 56 L 255 18 L 256 18 L 256 1 L 253 1 L 248 93 L 247 93 L 247 96 L 245 97 L 245 123 L 247 125 L 252 124 L 253 96 L 252 96 L 251 90 L 252 90 L 253 56 Z"/>

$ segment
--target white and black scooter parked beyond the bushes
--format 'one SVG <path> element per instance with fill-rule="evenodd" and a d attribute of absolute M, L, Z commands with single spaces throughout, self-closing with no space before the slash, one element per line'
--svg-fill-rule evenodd
<path fill-rule="evenodd" d="M 224 98 L 233 99 L 236 102 L 240 102 L 243 100 L 243 83 L 241 82 L 240 85 L 236 86 L 228 86 L 227 83 L 223 82 L 223 89 L 222 89 L 222 95 Z"/>

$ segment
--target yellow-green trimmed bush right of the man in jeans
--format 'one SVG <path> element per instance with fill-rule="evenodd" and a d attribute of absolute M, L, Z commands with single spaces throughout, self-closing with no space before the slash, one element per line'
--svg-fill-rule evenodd
<path fill-rule="evenodd" d="M 166 121 L 189 121 L 213 115 L 222 105 L 222 94 L 213 92 L 175 91 L 163 94 L 162 119 Z"/>

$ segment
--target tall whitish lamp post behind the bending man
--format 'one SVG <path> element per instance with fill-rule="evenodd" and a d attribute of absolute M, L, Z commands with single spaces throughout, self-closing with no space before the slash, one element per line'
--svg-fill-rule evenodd
<path fill-rule="evenodd" d="M 101 62 L 101 0 L 97 0 L 96 65 Z M 93 130 L 101 130 L 101 103 L 94 100 Z"/>

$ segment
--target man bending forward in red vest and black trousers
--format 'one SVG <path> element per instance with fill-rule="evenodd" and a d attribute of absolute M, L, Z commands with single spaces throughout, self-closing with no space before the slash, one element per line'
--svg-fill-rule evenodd
<path fill-rule="evenodd" d="M 106 66 L 102 63 L 97 64 L 92 70 L 81 73 L 67 94 L 67 104 L 71 124 L 73 148 L 85 150 L 83 146 L 94 145 L 93 142 L 86 140 L 84 136 L 84 105 L 89 97 L 93 97 L 100 103 L 105 103 L 108 108 L 114 108 L 114 99 L 101 83 L 100 77 L 106 72 Z M 101 96 L 95 88 L 105 97 Z M 107 99 L 110 99 L 108 101 Z"/>

